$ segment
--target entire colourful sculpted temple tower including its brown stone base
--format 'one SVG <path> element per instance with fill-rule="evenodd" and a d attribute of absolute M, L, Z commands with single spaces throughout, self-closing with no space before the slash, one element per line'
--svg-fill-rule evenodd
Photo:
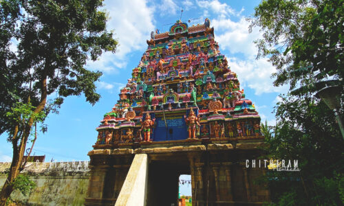
<path fill-rule="evenodd" d="M 246 159 L 263 154 L 261 119 L 210 24 L 177 21 L 169 32 L 151 32 L 119 100 L 96 128 L 85 205 L 128 205 L 132 193 L 143 195 L 144 205 L 177 205 L 180 174 L 191 174 L 193 205 L 269 201 L 268 190 L 255 184 L 266 170 L 246 167 Z M 143 172 L 131 169 L 142 162 Z M 143 193 L 128 186 L 139 175 L 146 179 Z"/>

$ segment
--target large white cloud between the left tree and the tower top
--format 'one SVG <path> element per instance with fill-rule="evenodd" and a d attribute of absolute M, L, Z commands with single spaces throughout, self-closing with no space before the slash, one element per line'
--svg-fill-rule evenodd
<path fill-rule="evenodd" d="M 90 69 L 105 73 L 118 73 L 127 66 L 128 54 L 147 47 L 146 40 L 153 31 L 153 8 L 145 0 L 105 1 L 104 8 L 109 14 L 107 30 L 114 30 L 118 39 L 116 54 L 107 52 L 98 61 L 88 61 Z"/>

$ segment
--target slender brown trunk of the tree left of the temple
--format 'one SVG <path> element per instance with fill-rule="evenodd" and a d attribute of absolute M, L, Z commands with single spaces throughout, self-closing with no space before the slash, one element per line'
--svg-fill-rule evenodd
<path fill-rule="evenodd" d="M 43 76 L 42 78 L 42 89 L 41 89 L 41 101 L 39 105 L 34 109 L 34 114 L 41 113 L 45 108 L 45 103 L 47 102 L 47 76 Z M 13 146 L 13 159 L 10 166 L 10 172 L 8 173 L 8 178 L 6 182 L 3 184 L 3 187 L 0 192 L 0 206 L 5 206 L 7 199 L 10 197 L 11 193 L 13 192 L 13 187 L 11 183 L 19 174 L 19 169 L 21 168 L 21 163 L 23 161 L 23 156 L 25 152 L 26 142 L 28 141 L 28 137 L 30 135 L 30 130 L 32 125 L 34 124 L 34 119 L 30 117 L 28 120 L 28 124 L 23 127 L 23 133 L 21 137 L 17 137 L 17 127 L 14 131 L 14 135 L 12 138 L 12 146 Z M 20 144 L 18 148 L 18 140 L 20 139 Z"/>

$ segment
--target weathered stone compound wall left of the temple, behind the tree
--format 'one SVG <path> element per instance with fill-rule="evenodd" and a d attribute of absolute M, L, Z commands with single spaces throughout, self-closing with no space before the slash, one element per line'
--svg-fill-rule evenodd
<path fill-rule="evenodd" d="M 0 163 L 0 187 L 7 178 L 10 163 Z M 11 198 L 24 205 L 83 205 L 89 185 L 88 162 L 28 163 L 21 172 L 36 187 L 28 196 L 12 192 Z"/>

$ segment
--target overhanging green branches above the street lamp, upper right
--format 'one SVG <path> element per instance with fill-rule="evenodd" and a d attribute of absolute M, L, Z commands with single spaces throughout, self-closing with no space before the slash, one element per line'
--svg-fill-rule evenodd
<path fill-rule="evenodd" d="M 343 5 L 343 0 L 264 0 L 255 8 L 250 30 L 258 26 L 263 32 L 255 41 L 257 58 L 266 56 L 277 68 L 275 86 L 299 87 L 293 94 L 325 84 L 343 87 Z"/>

